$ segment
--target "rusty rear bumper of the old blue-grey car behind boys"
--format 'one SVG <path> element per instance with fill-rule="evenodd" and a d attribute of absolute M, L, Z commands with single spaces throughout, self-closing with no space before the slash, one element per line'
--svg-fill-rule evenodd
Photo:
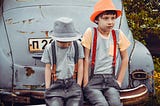
<path fill-rule="evenodd" d="M 44 102 L 45 91 L 35 90 L 1 90 L 0 99 L 3 102 L 22 103 L 22 104 L 33 104 L 33 99 Z M 120 90 L 120 99 L 123 105 L 138 105 L 145 103 L 149 97 L 148 89 L 144 84 L 137 86 L 136 88 Z M 35 103 L 34 103 L 35 104 Z M 85 101 L 85 105 L 88 104 Z"/>

